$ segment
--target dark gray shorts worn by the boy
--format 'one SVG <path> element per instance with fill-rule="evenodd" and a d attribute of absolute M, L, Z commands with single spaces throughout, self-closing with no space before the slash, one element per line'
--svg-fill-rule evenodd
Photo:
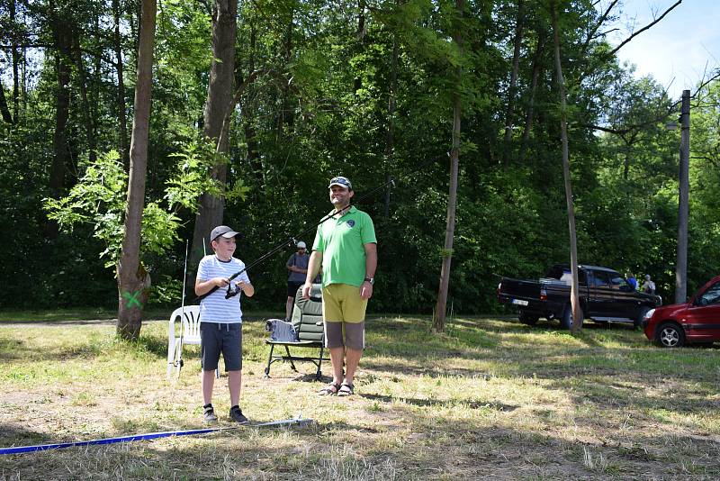
<path fill-rule="evenodd" d="M 226 371 L 242 370 L 242 323 L 200 322 L 200 350 L 203 371 L 218 368 L 220 352 Z"/>

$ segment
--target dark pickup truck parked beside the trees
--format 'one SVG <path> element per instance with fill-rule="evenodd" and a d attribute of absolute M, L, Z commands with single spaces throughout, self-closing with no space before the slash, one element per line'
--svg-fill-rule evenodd
<path fill-rule="evenodd" d="M 617 271 L 596 266 L 578 266 L 582 317 L 595 322 L 628 322 L 640 326 L 645 313 L 662 305 L 659 295 L 636 291 Z M 514 279 L 502 277 L 498 286 L 500 303 L 518 308 L 520 322 L 533 325 L 541 317 L 572 326 L 569 266 L 557 264 L 545 277 Z"/>

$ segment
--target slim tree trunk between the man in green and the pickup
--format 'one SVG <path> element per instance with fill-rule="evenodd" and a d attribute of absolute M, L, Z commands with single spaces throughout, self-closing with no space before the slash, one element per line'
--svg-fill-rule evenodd
<path fill-rule="evenodd" d="M 456 0 L 457 9 L 453 41 L 461 56 L 463 52 L 463 33 L 460 19 L 464 13 L 464 0 Z M 447 291 L 450 287 L 450 267 L 453 260 L 453 241 L 455 239 L 455 208 L 457 205 L 457 177 L 460 157 L 460 120 L 463 112 L 461 97 L 463 68 L 458 66 L 455 70 L 455 92 L 453 93 L 453 148 L 450 150 L 450 189 L 447 197 L 447 223 L 445 232 L 445 248 L 443 249 L 443 264 L 440 268 L 440 286 L 437 292 L 437 304 L 433 316 L 433 331 L 445 330 Z"/>

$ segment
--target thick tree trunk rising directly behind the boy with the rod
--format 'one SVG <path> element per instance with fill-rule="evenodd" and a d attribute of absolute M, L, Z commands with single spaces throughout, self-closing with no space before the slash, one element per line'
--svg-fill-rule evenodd
<path fill-rule="evenodd" d="M 216 142 L 216 151 L 227 154 L 229 139 L 222 132 L 225 114 L 232 104 L 232 83 L 235 77 L 235 35 L 236 17 L 238 14 L 237 0 L 216 0 L 212 10 L 212 63 L 208 97 L 205 103 L 204 130 L 206 137 Z M 211 170 L 211 177 L 220 186 L 225 185 L 227 163 L 221 161 Z M 193 231 L 193 254 L 191 266 L 196 266 L 202 257 L 202 241 L 210 235 L 210 231 L 222 223 L 223 198 L 203 194 L 200 208 L 195 217 Z M 192 272 L 192 271 L 191 271 Z"/>

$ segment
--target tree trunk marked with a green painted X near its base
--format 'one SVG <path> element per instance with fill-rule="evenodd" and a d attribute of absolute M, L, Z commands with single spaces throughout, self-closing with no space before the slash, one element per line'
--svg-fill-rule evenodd
<path fill-rule="evenodd" d="M 130 179 L 125 210 L 125 236 L 118 264 L 118 335 L 138 339 L 142 308 L 149 285 L 148 273 L 140 264 L 140 229 L 145 204 L 145 176 L 148 170 L 148 128 L 152 89 L 152 62 L 155 46 L 156 0 L 142 0 L 138 46 L 138 79 L 135 86 L 135 114 L 130 140 Z"/>

